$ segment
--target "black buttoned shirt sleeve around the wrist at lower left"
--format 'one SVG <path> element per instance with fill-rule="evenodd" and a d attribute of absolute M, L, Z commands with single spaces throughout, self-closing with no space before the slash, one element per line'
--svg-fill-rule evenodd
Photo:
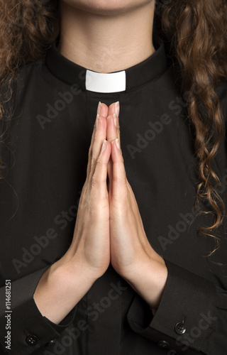
<path fill-rule="evenodd" d="M 43 317 L 33 299 L 35 288 L 49 266 L 24 276 L 11 283 L 11 312 L 6 310 L 6 288 L 0 288 L 0 343 L 11 355 L 32 354 L 40 346 L 57 338 L 74 320 L 76 307 L 60 324 Z M 7 349 L 7 317 L 11 324 L 11 347 Z"/>

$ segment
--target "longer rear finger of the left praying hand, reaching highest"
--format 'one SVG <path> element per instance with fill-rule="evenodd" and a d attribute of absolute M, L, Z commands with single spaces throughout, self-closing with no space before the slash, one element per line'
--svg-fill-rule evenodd
<path fill-rule="evenodd" d="M 106 104 L 99 104 L 97 109 L 96 121 L 94 124 L 94 129 L 92 133 L 92 141 L 89 148 L 89 159 L 87 164 L 87 178 L 90 177 L 94 173 L 94 166 L 96 163 L 96 159 L 99 156 L 101 151 L 101 145 L 106 139 L 106 116 L 108 114 L 108 107 Z"/>

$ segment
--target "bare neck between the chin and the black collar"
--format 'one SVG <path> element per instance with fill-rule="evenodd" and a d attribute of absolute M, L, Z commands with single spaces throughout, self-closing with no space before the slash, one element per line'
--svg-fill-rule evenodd
<path fill-rule="evenodd" d="M 155 53 L 154 1 L 131 11 L 102 16 L 61 3 L 58 50 L 94 72 L 117 72 Z"/>

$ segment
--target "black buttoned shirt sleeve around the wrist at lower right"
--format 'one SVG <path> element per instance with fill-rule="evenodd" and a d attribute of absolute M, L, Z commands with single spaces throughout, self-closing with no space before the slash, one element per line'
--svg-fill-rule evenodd
<path fill-rule="evenodd" d="M 165 261 L 168 276 L 155 313 L 136 296 L 131 328 L 173 354 L 220 355 L 227 349 L 227 290 Z"/>

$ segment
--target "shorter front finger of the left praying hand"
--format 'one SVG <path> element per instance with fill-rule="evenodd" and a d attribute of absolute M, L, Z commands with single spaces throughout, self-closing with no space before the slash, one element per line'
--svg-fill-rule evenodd
<path fill-rule="evenodd" d="M 91 198 L 96 201 L 105 200 L 108 197 L 106 178 L 107 178 L 107 163 L 111 155 L 111 144 L 104 140 L 101 146 L 99 157 L 96 160 L 94 174 L 92 176 L 92 191 Z M 107 195 L 106 195 L 107 194 Z"/>

